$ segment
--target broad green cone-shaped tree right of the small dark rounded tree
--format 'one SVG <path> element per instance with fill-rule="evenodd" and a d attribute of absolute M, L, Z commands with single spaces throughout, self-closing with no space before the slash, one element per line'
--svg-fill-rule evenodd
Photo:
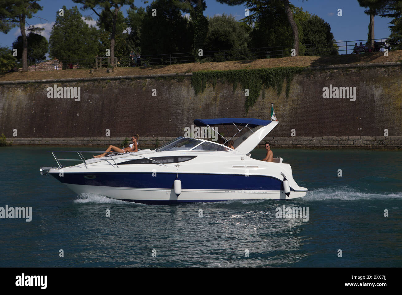
<path fill-rule="evenodd" d="M 63 6 L 64 16 L 57 13 L 50 38 L 50 55 L 63 63 L 66 69 L 67 63 L 80 64 L 90 67 L 94 63 L 94 57 L 98 51 L 98 34 L 96 28 L 88 26 L 82 20 L 82 15 L 77 6 L 67 9 Z"/>

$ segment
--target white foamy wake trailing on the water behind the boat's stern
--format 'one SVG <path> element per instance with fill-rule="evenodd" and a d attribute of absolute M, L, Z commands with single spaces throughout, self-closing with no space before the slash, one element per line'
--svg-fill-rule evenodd
<path fill-rule="evenodd" d="M 330 200 L 338 199 L 345 201 L 355 201 L 359 199 L 393 199 L 402 198 L 402 192 L 399 193 L 362 193 L 347 187 L 328 187 L 314 189 L 309 191 L 303 199 L 305 200 Z"/>

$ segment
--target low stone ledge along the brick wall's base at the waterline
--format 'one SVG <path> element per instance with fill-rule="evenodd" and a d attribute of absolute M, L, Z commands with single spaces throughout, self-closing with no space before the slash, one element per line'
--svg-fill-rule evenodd
<path fill-rule="evenodd" d="M 158 146 L 161 146 L 174 138 L 176 137 L 140 137 L 138 142 L 139 146 L 155 146 L 158 140 Z M 6 140 L 13 145 L 121 145 L 125 137 L 13 137 Z M 260 147 L 263 147 L 266 141 L 270 142 L 273 148 L 402 149 L 402 136 L 268 136 L 261 140 Z"/>

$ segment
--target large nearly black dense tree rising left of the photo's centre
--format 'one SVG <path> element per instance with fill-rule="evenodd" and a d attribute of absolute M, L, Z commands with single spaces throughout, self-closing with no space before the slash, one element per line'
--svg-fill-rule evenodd
<path fill-rule="evenodd" d="M 156 16 L 152 16 L 156 9 Z M 189 52 L 192 30 L 187 18 L 171 0 L 157 0 L 147 7 L 141 28 L 142 55 Z"/>

